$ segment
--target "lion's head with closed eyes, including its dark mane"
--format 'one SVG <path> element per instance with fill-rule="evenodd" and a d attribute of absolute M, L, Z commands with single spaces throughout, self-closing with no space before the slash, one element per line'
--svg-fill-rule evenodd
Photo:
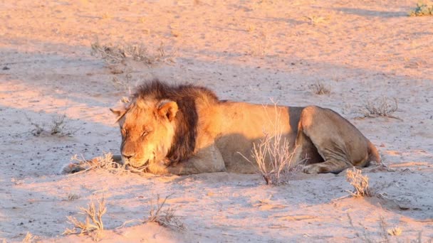
<path fill-rule="evenodd" d="M 154 161 L 177 163 L 194 153 L 197 136 L 195 99 L 212 92 L 192 85 L 171 86 L 154 80 L 137 87 L 131 101 L 111 109 L 122 134 L 123 163 L 133 167 Z"/>

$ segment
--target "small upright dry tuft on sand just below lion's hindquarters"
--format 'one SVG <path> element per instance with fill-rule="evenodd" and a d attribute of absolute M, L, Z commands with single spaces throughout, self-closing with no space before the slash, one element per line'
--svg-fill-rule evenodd
<path fill-rule="evenodd" d="M 346 173 L 346 180 L 350 183 L 350 185 L 353 185 L 353 192 L 350 192 L 350 195 L 352 195 L 355 198 L 361 198 L 361 197 L 372 197 L 375 195 L 375 192 L 368 187 L 368 177 L 367 175 L 362 175 L 361 170 L 358 170 L 357 168 L 348 169 Z"/>

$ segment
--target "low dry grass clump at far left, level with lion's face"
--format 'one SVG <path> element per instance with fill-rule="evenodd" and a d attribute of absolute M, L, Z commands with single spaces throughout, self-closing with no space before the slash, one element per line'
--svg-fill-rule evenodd
<path fill-rule="evenodd" d="M 26 116 L 27 117 L 27 116 Z M 51 124 L 48 126 L 45 124 L 37 124 L 33 122 L 30 117 L 27 120 L 34 127 L 30 131 L 33 136 L 41 136 L 41 134 L 49 134 L 53 136 L 73 136 L 79 129 L 71 130 L 68 127 L 68 121 L 66 120 L 66 114 L 61 116 L 53 117 Z"/>

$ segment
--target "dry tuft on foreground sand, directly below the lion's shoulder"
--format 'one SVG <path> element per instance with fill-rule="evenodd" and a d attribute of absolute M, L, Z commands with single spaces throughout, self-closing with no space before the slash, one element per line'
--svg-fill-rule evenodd
<path fill-rule="evenodd" d="M 167 195 L 167 197 L 165 197 L 165 199 L 160 203 L 160 195 L 157 195 L 157 205 L 154 207 L 153 203 L 151 202 L 152 206 L 150 208 L 149 217 L 147 217 L 145 222 L 156 222 L 158 225 L 164 227 L 172 227 L 174 229 L 184 230 L 186 227 L 179 220 L 179 217 L 174 215 L 175 210 L 173 207 L 168 207 L 164 210 L 162 209 L 169 196 L 170 195 Z"/>

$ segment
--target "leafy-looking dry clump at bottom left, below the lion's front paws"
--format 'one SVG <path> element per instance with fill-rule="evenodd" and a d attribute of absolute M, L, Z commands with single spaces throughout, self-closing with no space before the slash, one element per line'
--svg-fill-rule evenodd
<path fill-rule="evenodd" d="M 80 234 L 90 235 L 93 240 L 98 241 L 102 236 L 104 230 L 103 215 L 107 212 L 105 207 L 105 198 L 98 200 L 98 210 L 96 210 L 95 203 L 90 201 L 88 207 L 80 207 L 80 213 L 85 215 L 85 221 L 79 221 L 75 217 L 68 216 L 68 221 L 73 225 L 72 229 L 66 228 L 63 234 Z M 80 232 L 76 232 L 76 230 Z"/>

